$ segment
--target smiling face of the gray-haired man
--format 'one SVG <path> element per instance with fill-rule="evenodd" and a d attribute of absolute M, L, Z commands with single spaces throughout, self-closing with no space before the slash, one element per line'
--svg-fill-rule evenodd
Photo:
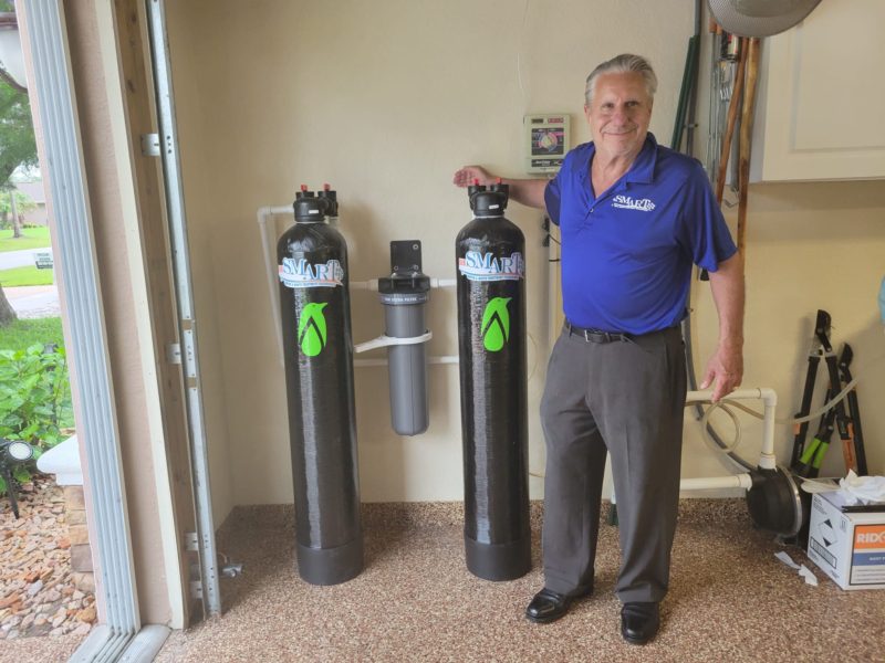
<path fill-rule="evenodd" d="M 608 157 L 638 155 L 652 122 L 652 99 L 642 74 L 601 75 L 584 114 L 597 151 Z"/>

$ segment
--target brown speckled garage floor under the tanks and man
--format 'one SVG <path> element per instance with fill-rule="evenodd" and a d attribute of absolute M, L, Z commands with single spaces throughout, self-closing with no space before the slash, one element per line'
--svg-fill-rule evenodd
<path fill-rule="evenodd" d="M 842 591 L 819 571 L 820 587 L 806 586 L 774 559 L 781 548 L 752 528 L 740 501 L 683 502 L 653 643 L 621 639 L 608 526 L 595 594 L 555 623 L 532 624 L 523 610 L 542 586 L 538 511 L 532 570 L 492 583 L 464 566 L 460 505 L 365 505 L 365 570 L 321 588 L 294 570 L 291 508 L 238 508 L 219 536 L 219 549 L 244 562 L 223 581 L 225 614 L 174 633 L 157 660 L 885 661 L 885 592 Z"/>

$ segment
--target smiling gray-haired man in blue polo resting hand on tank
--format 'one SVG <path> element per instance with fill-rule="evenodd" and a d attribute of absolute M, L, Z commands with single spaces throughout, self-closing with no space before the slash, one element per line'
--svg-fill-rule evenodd
<path fill-rule="evenodd" d="M 565 325 L 553 348 L 541 420 L 546 439 L 544 588 L 525 615 L 561 618 L 593 590 L 606 452 L 621 537 L 621 632 L 657 633 L 679 497 L 686 316 L 691 264 L 710 274 L 719 343 L 701 382 L 719 400 L 742 376 L 743 266 L 700 164 L 648 134 L 657 78 L 637 55 L 587 77 L 593 143 L 555 179 L 510 180 L 511 197 L 546 208 L 562 240 Z M 458 186 L 493 181 L 468 166 Z"/>

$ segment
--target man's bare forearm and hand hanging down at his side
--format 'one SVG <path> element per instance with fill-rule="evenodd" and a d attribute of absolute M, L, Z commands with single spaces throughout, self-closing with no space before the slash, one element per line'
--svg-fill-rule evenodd
<path fill-rule="evenodd" d="M 715 383 L 716 402 L 743 378 L 743 257 L 736 253 L 710 272 L 710 290 L 719 313 L 719 344 L 707 362 L 701 389 Z"/>

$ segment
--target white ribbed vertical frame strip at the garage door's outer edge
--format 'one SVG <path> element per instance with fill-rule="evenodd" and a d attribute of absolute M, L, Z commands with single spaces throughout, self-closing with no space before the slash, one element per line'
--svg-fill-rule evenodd
<path fill-rule="evenodd" d="M 88 189 L 83 162 L 62 0 L 19 0 L 43 129 L 49 196 L 55 214 L 56 264 L 64 283 L 69 356 L 80 393 L 77 429 L 91 487 L 91 541 L 103 622 L 72 661 L 150 661 L 169 629 L 143 628 L 138 612 L 123 464 L 113 399 Z"/>

